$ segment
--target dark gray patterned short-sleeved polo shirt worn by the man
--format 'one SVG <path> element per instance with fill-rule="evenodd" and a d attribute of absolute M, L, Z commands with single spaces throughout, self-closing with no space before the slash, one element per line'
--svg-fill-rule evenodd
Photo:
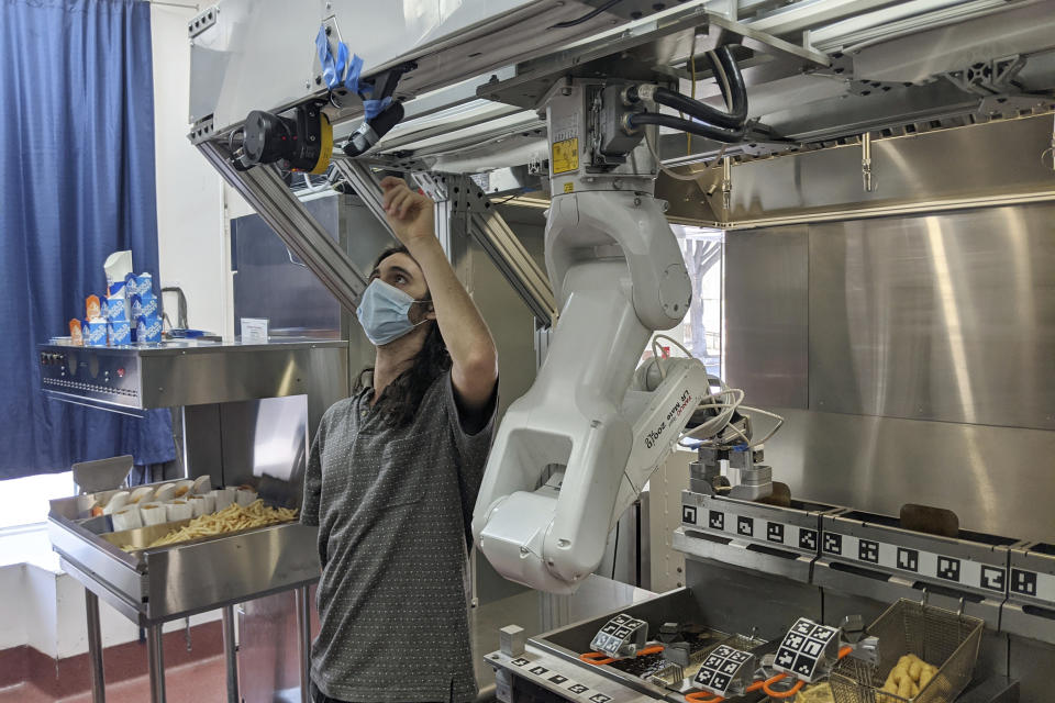
<path fill-rule="evenodd" d="M 319 526 L 322 561 L 312 680 L 356 703 L 473 701 L 467 545 L 497 403 L 469 435 L 449 372 L 398 429 L 371 394 L 326 411 L 308 460 L 301 522 Z"/>

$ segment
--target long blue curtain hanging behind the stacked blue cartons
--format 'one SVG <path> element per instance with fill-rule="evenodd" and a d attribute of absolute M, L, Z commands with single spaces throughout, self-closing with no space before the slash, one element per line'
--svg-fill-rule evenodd
<path fill-rule="evenodd" d="M 49 401 L 35 349 L 103 293 L 111 252 L 132 249 L 158 280 L 149 4 L 0 0 L 0 478 L 119 454 L 173 460 L 168 411 Z"/>

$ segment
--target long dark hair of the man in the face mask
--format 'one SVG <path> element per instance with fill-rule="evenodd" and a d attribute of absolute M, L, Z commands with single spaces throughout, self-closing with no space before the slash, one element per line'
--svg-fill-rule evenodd
<path fill-rule="evenodd" d="M 404 246 L 389 247 L 377 257 L 374 269 L 376 270 L 381 261 L 393 254 L 410 256 L 410 252 Z M 431 292 L 425 293 L 425 300 L 432 300 Z M 429 332 L 425 334 L 425 343 L 421 346 L 421 352 L 414 357 L 414 362 L 385 388 L 375 405 L 381 413 L 385 424 L 390 427 L 401 427 L 409 424 L 414 419 L 425 392 L 437 378 L 451 368 L 451 354 L 447 352 L 443 335 L 440 334 L 440 325 L 435 321 L 425 324 L 429 325 Z M 359 393 L 366 388 L 364 379 L 367 373 L 373 372 L 373 366 L 359 371 L 359 376 L 355 379 L 355 387 L 352 389 L 353 394 Z"/>

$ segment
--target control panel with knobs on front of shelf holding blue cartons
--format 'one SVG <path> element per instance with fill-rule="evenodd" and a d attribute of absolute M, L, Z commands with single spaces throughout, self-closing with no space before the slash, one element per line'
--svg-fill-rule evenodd
<path fill-rule="evenodd" d="M 60 400 L 142 409 L 135 349 L 42 345 L 41 384 Z"/>

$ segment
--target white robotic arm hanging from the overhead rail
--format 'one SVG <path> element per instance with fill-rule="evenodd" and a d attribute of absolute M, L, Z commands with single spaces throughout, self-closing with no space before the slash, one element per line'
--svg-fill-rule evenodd
<path fill-rule="evenodd" d="M 473 520 L 500 573 L 557 593 L 597 568 L 614 521 L 709 395 L 696 359 L 666 365 L 655 390 L 634 387 L 652 333 L 688 312 L 691 283 L 644 145 L 607 171 L 578 153 L 580 138 L 598 142 L 599 90 L 576 83 L 549 99 L 551 138 L 564 142 L 554 147 L 576 149 L 565 171 L 551 159 L 546 267 L 560 314 L 534 386 L 499 427 Z M 547 469 L 564 472 L 559 488 L 542 486 Z"/>

